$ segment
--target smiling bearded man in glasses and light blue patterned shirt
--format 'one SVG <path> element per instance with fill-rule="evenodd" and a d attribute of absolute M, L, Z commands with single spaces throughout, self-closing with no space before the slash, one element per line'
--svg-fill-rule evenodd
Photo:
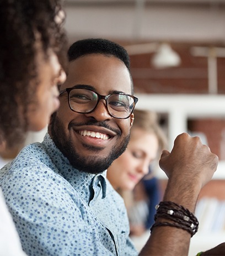
<path fill-rule="evenodd" d="M 111 41 L 87 39 L 68 55 L 49 134 L 2 169 L 4 196 L 28 255 L 137 255 L 124 204 L 105 171 L 126 149 L 137 103 L 127 53 Z M 169 176 L 164 200 L 193 212 L 217 163 L 199 138 L 179 135 L 160 160 Z M 155 227 L 141 255 L 185 255 L 190 237 L 183 228 Z"/>

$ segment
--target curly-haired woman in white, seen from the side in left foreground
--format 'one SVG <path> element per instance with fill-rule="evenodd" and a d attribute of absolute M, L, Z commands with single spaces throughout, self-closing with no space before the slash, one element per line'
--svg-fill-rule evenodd
<path fill-rule="evenodd" d="M 67 38 L 60 0 L 0 0 L 0 149 L 23 143 L 59 106 Z M 24 256 L 0 189 L 0 255 Z"/>

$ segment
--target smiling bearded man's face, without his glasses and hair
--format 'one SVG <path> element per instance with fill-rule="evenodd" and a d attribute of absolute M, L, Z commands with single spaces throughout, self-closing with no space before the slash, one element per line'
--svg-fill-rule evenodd
<path fill-rule="evenodd" d="M 85 55 L 69 63 L 67 80 L 60 89 L 77 85 L 91 86 L 100 95 L 131 94 L 131 79 L 125 64 L 102 54 Z M 69 108 L 67 92 L 61 95 L 60 103 L 49 127 L 57 147 L 78 170 L 100 173 L 107 169 L 126 149 L 131 118 L 111 117 L 105 100 L 100 100 L 92 113 L 85 114 Z"/>

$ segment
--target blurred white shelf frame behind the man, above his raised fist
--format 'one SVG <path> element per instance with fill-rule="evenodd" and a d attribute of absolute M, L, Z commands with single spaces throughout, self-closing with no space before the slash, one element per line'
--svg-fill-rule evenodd
<path fill-rule="evenodd" d="M 136 94 L 137 108 L 168 114 L 169 149 L 176 136 L 188 132 L 188 118 L 225 118 L 225 95 Z"/>

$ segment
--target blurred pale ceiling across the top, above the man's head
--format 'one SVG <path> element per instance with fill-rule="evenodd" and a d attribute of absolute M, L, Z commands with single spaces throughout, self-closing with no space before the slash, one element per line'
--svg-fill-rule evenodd
<path fill-rule="evenodd" d="M 67 0 L 65 7 L 71 41 L 225 43 L 224 0 Z"/>

